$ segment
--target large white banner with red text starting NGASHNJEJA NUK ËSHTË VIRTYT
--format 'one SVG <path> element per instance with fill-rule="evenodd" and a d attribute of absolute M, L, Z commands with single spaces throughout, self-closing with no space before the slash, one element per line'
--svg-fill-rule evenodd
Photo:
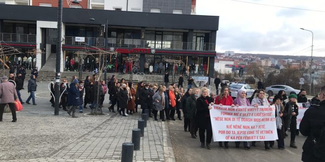
<path fill-rule="evenodd" d="M 278 139 L 275 107 L 230 107 L 210 110 L 214 141 L 271 141 Z"/>

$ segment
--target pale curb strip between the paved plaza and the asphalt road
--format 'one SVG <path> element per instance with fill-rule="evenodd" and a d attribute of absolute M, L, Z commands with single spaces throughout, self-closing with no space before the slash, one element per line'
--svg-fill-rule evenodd
<path fill-rule="evenodd" d="M 167 121 L 162 122 L 162 143 L 163 143 L 163 156 L 165 162 L 176 162 L 173 148 L 170 141 Z"/>

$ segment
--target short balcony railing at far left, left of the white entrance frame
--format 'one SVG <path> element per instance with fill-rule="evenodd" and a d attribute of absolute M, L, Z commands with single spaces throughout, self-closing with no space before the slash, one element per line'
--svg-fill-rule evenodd
<path fill-rule="evenodd" d="M 0 41 L 36 43 L 36 35 L 35 34 L 0 33 Z"/>

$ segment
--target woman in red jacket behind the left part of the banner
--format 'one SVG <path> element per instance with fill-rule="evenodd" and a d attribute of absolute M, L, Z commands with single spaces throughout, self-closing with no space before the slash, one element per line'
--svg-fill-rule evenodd
<path fill-rule="evenodd" d="M 220 95 L 216 97 L 214 103 L 220 106 L 225 105 L 225 106 L 235 107 L 235 105 L 233 105 L 232 97 L 229 95 L 229 89 L 227 86 L 223 86 L 221 88 Z M 219 147 L 223 147 L 222 142 L 219 142 Z M 225 148 L 227 149 L 228 147 L 229 147 L 228 142 L 225 141 Z"/>

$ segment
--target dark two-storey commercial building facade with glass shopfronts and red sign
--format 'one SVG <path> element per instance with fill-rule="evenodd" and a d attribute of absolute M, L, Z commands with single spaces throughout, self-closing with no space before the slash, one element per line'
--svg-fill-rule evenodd
<path fill-rule="evenodd" d="M 12 10 L 17 12 L 4 14 Z M 106 20 L 107 50 L 118 53 L 107 57 L 108 71 L 123 71 L 126 65 L 133 72 L 149 73 L 148 66 L 153 66 L 154 72 L 162 73 L 162 65 L 169 72 L 195 71 L 193 74 L 213 77 L 218 16 L 79 8 L 63 10 L 61 71 L 92 71 L 99 66 L 104 58 L 98 58 L 96 53 L 105 50 Z M 34 55 L 39 70 L 50 54 L 56 54 L 56 41 L 52 41 L 56 39 L 56 28 L 57 8 L 0 4 L 1 43 L 25 55 L 32 49 L 42 51 Z M 89 54 L 80 56 L 77 52 Z M 136 60 L 127 62 L 126 57 Z M 71 59 L 76 62 L 73 66 Z M 182 63 L 173 67 L 166 59 Z"/>

